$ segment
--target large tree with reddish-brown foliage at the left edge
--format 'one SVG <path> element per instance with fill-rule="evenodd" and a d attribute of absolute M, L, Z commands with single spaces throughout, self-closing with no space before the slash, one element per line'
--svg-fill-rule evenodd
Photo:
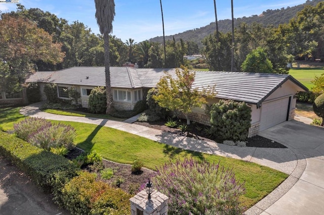
<path fill-rule="evenodd" d="M 7 80 L 2 80 L 7 90 L 18 91 L 26 76 L 35 71 L 35 62 L 57 64 L 63 61 L 62 45 L 54 43 L 49 33 L 37 28 L 29 19 L 2 14 L 0 29 L 0 62 L 9 66 L 3 75 Z"/>

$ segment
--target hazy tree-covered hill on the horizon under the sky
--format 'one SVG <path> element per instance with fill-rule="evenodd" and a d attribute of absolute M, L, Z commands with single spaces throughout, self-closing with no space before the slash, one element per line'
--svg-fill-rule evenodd
<path fill-rule="evenodd" d="M 257 22 L 263 24 L 264 26 L 273 25 L 278 26 L 279 24 L 288 23 L 289 20 L 297 15 L 297 12 L 301 11 L 306 5 L 316 6 L 319 0 L 306 1 L 306 3 L 302 5 L 297 5 L 294 7 L 287 7 L 277 9 L 277 10 L 267 10 L 264 11 L 260 15 L 252 15 L 251 17 L 242 17 L 234 20 L 234 26 L 236 27 L 240 22 L 246 22 L 247 24 L 252 24 L 253 22 Z M 235 13 L 235 11 L 234 11 Z M 231 20 L 219 20 L 218 28 L 221 32 L 229 32 L 231 31 Z M 194 41 L 201 46 L 201 40 L 203 40 L 207 35 L 214 33 L 216 30 L 215 22 L 210 23 L 209 25 L 201 28 L 196 28 L 193 30 L 188 30 L 182 33 L 178 33 L 175 35 L 166 36 L 166 40 L 172 40 L 173 36 L 176 41 L 179 41 L 182 38 L 184 41 Z M 158 36 L 149 39 L 152 42 L 160 42 L 163 43 L 163 36 Z"/>

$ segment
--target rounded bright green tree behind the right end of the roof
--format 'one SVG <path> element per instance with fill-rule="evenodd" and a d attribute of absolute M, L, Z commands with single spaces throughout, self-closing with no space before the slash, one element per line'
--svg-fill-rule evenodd
<path fill-rule="evenodd" d="M 243 72 L 273 73 L 272 64 L 261 47 L 249 53 L 247 59 L 242 63 L 241 70 Z"/>

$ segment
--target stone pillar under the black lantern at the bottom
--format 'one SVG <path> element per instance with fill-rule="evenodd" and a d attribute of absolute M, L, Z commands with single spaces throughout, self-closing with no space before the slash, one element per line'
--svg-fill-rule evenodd
<path fill-rule="evenodd" d="M 168 215 L 169 197 L 153 190 L 151 199 L 145 190 L 130 198 L 132 215 Z"/>

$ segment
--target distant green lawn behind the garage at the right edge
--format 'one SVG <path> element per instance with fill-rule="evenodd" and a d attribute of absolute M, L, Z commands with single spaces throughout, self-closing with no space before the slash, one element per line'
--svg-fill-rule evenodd
<path fill-rule="evenodd" d="M 299 82 L 304 84 L 308 89 L 311 89 L 314 85 L 311 81 L 315 76 L 320 76 L 324 73 L 324 68 L 293 68 L 289 70 L 289 74 L 296 78 Z"/>

